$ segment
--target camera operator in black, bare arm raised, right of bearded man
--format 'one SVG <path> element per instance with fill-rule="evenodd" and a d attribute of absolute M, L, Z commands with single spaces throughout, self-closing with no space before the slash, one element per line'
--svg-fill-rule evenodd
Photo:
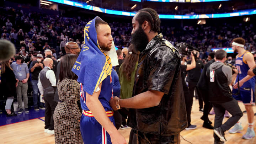
<path fill-rule="evenodd" d="M 187 57 L 187 55 L 186 55 Z M 194 69 L 196 68 L 196 60 L 194 59 L 194 54 L 193 52 L 191 52 L 191 64 L 181 64 L 181 79 L 182 79 L 182 86 L 183 86 L 183 92 L 184 92 L 184 96 L 185 96 L 185 103 L 186 103 L 186 111 L 187 111 L 187 121 L 188 121 L 188 126 L 186 128 L 186 130 L 189 130 L 189 129 L 196 129 L 196 125 L 191 125 L 191 117 L 190 117 L 190 114 L 191 114 L 191 101 L 193 101 L 193 97 L 192 97 L 192 100 L 191 100 L 191 96 L 190 96 L 190 93 L 188 91 L 188 87 L 187 87 L 187 84 L 186 84 L 186 81 L 185 81 L 185 74 L 184 72 L 186 72 L 187 70 L 191 70 L 191 69 Z"/>

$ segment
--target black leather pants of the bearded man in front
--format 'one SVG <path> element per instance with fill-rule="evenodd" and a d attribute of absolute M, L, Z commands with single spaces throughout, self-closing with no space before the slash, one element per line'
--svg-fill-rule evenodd
<path fill-rule="evenodd" d="M 161 136 L 137 130 L 137 144 L 180 144 L 180 133 Z"/>

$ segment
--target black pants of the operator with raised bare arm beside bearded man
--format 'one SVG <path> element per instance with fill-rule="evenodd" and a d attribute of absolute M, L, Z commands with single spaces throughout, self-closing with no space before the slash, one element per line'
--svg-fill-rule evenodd
<path fill-rule="evenodd" d="M 186 105 L 186 112 L 187 112 L 187 121 L 188 121 L 188 127 L 191 125 L 191 108 L 193 102 L 193 97 L 191 97 L 190 92 L 188 90 L 184 90 L 184 97 L 185 97 L 185 105 Z"/>

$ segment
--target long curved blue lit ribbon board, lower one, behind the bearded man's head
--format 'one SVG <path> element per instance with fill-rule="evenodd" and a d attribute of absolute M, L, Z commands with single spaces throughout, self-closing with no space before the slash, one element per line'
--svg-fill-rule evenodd
<path fill-rule="evenodd" d="M 126 12 L 126 11 L 117 11 L 117 10 L 109 10 L 103 9 L 97 6 L 87 5 L 86 2 L 78 2 L 78 1 L 70 1 L 70 0 L 48 0 L 52 2 L 57 2 L 60 4 L 71 5 L 75 7 L 80 7 L 87 10 L 93 10 L 97 12 L 102 12 L 106 14 L 112 15 L 122 15 L 122 16 L 134 16 L 135 12 Z M 233 17 L 233 16 L 245 16 L 245 15 L 255 15 L 256 9 L 231 12 L 225 14 L 203 14 L 203 15 L 159 15 L 159 18 L 166 19 L 199 19 L 199 18 L 221 18 L 221 17 Z"/>

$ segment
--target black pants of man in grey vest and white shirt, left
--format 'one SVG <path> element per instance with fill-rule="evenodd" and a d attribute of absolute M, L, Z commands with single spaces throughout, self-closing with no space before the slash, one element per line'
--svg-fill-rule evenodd
<path fill-rule="evenodd" d="M 54 130 L 53 113 L 58 103 L 53 99 L 54 94 L 44 94 L 44 103 L 46 106 L 44 114 L 44 129 Z"/>

